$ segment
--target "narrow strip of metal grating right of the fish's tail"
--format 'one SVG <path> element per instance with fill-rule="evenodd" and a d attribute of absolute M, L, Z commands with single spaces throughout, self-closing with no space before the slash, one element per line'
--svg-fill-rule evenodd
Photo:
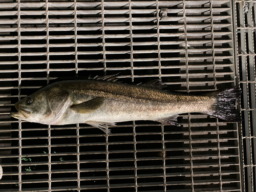
<path fill-rule="evenodd" d="M 244 191 L 256 191 L 255 185 L 255 2 L 235 1 L 236 39 L 238 58 L 238 82 L 243 90 L 240 108 L 244 121 L 241 123 L 241 159 Z"/>

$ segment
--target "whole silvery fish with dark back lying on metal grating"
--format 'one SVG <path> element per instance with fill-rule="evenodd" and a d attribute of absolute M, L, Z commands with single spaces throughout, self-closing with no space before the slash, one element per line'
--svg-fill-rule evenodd
<path fill-rule="evenodd" d="M 144 84 L 118 82 L 118 74 L 87 80 L 59 81 L 15 103 L 11 117 L 48 125 L 87 123 L 110 134 L 117 122 L 152 120 L 180 126 L 179 114 L 202 113 L 240 122 L 236 102 L 241 89 L 232 87 L 204 95 L 174 94 L 160 79 Z"/>

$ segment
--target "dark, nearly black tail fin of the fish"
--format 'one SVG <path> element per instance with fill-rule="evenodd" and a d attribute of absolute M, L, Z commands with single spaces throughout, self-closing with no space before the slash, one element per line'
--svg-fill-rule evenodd
<path fill-rule="evenodd" d="M 218 117 L 229 122 L 240 122 L 241 115 L 234 106 L 241 95 L 239 87 L 233 87 L 226 90 L 220 90 L 210 93 L 209 97 L 215 98 L 213 109 L 208 115 Z"/>

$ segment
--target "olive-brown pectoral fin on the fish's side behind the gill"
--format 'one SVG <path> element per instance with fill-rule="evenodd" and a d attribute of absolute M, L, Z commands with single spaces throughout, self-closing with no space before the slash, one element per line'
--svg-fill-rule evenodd
<path fill-rule="evenodd" d="M 104 102 L 104 97 L 97 97 L 80 104 L 70 106 L 76 113 L 92 113 L 100 108 Z"/>

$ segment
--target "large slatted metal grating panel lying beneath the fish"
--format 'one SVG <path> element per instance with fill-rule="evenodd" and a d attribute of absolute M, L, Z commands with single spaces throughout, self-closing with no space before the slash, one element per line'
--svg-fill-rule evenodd
<path fill-rule="evenodd" d="M 87 124 L 48 126 L 9 115 L 40 87 L 90 74 L 125 71 L 124 82 L 160 78 L 193 94 L 233 86 L 230 0 L 0 5 L 0 191 L 241 191 L 236 123 L 184 114 L 181 127 L 123 122 L 107 136 Z"/>

